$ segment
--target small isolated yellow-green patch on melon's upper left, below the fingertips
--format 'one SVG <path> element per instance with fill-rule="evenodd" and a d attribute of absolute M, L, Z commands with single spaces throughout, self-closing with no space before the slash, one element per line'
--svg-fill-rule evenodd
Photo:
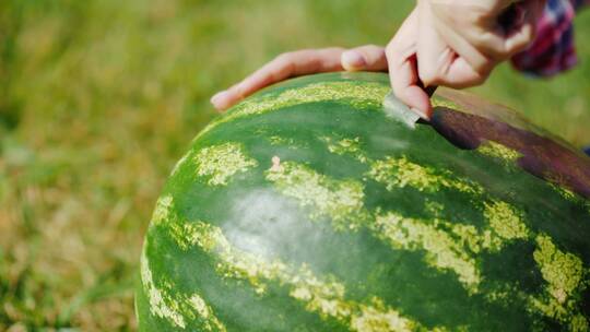
<path fill-rule="evenodd" d="M 258 163 L 248 158 L 239 143 L 223 143 L 201 149 L 193 157 L 197 175 L 204 177 L 209 186 L 225 186 L 237 173 L 245 173 Z"/>

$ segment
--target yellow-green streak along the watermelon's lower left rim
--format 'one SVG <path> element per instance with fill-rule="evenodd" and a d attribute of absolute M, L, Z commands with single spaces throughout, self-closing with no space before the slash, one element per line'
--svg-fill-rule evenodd
<path fill-rule="evenodd" d="M 179 294 L 177 290 L 173 290 L 174 287 L 169 283 L 164 283 L 160 288 L 155 285 L 152 271 L 150 270 L 150 262 L 145 256 L 145 246 L 142 251 L 140 265 L 143 292 L 148 296 L 150 312 L 152 315 L 165 319 L 174 327 L 180 329 L 186 329 L 186 319 L 198 319 L 197 323 L 200 331 L 226 331 L 225 325 L 198 294 L 190 296 Z"/>

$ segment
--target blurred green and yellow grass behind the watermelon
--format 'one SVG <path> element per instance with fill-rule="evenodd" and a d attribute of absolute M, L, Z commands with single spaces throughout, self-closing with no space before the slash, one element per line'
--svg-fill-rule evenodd
<path fill-rule="evenodd" d="M 386 44 L 413 1 L 0 1 L 0 330 L 134 330 L 142 235 L 209 97 L 298 48 Z M 581 64 L 475 91 L 590 143 Z M 72 330 L 68 330 L 72 331 Z"/>

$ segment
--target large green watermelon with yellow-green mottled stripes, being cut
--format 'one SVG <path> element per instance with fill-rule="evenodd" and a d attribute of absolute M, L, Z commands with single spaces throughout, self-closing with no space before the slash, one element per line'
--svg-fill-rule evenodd
<path fill-rule="evenodd" d="M 451 91 L 292 80 L 205 128 L 157 200 L 141 331 L 588 331 L 590 162 Z"/>

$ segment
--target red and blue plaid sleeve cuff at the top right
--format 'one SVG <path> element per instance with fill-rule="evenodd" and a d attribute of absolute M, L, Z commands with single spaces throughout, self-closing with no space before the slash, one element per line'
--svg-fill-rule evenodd
<path fill-rule="evenodd" d="M 514 67 L 533 76 L 551 76 L 577 63 L 573 21 L 590 0 L 548 0 L 532 45 L 512 58 Z"/>

